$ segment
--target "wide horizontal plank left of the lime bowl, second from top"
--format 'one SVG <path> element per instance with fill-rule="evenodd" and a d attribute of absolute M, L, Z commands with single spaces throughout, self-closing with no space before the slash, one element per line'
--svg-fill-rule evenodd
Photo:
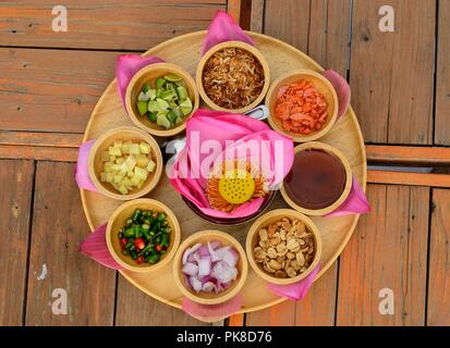
<path fill-rule="evenodd" d="M 0 128 L 83 133 L 119 54 L 0 49 Z"/>

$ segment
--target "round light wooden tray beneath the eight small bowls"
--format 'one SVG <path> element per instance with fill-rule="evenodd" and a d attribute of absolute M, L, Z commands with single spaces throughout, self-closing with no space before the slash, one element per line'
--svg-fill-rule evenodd
<path fill-rule="evenodd" d="M 192 76 L 195 75 L 197 63 L 200 59 L 200 48 L 206 32 L 196 32 L 165 41 L 144 55 L 158 55 L 161 59 L 182 66 Z M 285 42 L 260 34 L 248 33 L 255 40 L 257 48 L 266 57 L 272 79 L 291 70 L 309 69 L 321 71 L 323 69 L 306 54 Z M 113 127 L 133 125 L 126 115 L 122 101 L 118 94 L 115 79 L 108 86 L 93 111 L 83 140 L 96 139 L 101 134 Z M 349 108 L 346 114 L 339 120 L 332 129 L 320 139 L 340 149 L 348 158 L 353 175 L 365 189 L 366 186 L 366 154 L 363 136 L 356 116 Z M 94 231 L 108 221 L 110 214 L 123 203 L 97 192 L 81 190 L 83 208 Z M 221 229 L 236 237 L 245 245 L 246 233 L 252 224 L 247 222 L 239 226 L 217 226 L 198 217 L 183 201 L 181 196 L 172 188 L 166 175 L 148 197 L 160 200 L 170 207 L 177 214 L 182 229 L 182 240 L 191 234 L 202 229 Z M 288 208 L 281 195 L 277 197 L 268 209 Z M 339 217 L 311 217 L 320 231 L 323 238 L 321 269 L 318 274 L 324 274 L 342 252 L 358 220 L 358 215 Z M 122 275 L 142 291 L 170 306 L 181 308 L 182 294 L 175 285 L 172 276 L 172 264 L 151 273 L 122 272 Z M 284 299 L 276 296 L 267 289 L 265 281 L 248 270 L 248 276 L 242 290 L 244 307 L 241 313 L 260 310 L 277 304 Z"/>

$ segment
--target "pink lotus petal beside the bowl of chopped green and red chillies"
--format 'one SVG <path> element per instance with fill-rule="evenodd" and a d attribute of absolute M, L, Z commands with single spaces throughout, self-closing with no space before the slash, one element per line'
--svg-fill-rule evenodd
<path fill-rule="evenodd" d="M 80 252 L 88 256 L 94 261 L 113 270 L 123 268 L 111 257 L 106 241 L 107 225 L 98 227 L 80 245 Z"/>

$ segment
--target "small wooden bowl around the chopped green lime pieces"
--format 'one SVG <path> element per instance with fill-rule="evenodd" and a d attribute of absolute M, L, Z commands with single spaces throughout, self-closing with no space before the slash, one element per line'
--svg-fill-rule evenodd
<path fill-rule="evenodd" d="M 184 116 L 183 123 L 170 129 L 166 129 L 161 126 L 158 126 L 156 123 L 148 121 L 146 116 L 141 116 L 136 107 L 137 96 L 139 95 L 144 84 L 153 83 L 158 77 L 162 77 L 167 74 L 175 74 L 184 79 L 186 84 L 187 94 L 192 100 L 193 105 L 191 114 Z M 191 117 L 191 115 L 198 109 L 198 104 L 199 97 L 197 87 L 195 86 L 194 78 L 187 72 L 174 64 L 156 63 L 147 65 L 141 69 L 133 76 L 129 86 L 126 87 L 125 108 L 131 121 L 141 129 L 144 129 L 149 134 L 159 137 L 171 137 L 175 134 L 183 132 L 186 128 L 187 119 Z"/>

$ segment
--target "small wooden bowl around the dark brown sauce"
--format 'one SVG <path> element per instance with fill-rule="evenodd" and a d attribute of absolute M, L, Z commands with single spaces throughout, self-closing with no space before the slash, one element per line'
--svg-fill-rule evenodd
<path fill-rule="evenodd" d="M 352 189 L 352 170 L 350 167 L 350 163 L 346 160 L 345 156 L 338 150 L 337 148 L 333 148 L 332 146 L 329 146 L 325 142 L 319 142 L 319 141 L 311 141 L 311 142 L 305 142 L 305 144 L 301 144 L 297 145 L 294 148 L 294 153 L 304 151 L 304 150 L 308 150 L 308 149 L 316 149 L 316 150 L 323 150 L 325 152 L 331 153 L 335 157 L 337 157 L 342 165 L 344 166 L 345 170 L 345 186 L 344 189 L 341 194 L 341 196 L 338 198 L 337 201 L 335 201 L 331 206 L 328 206 L 326 208 L 323 209 L 306 209 L 303 207 L 300 207 L 299 204 L 296 204 L 288 195 L 288 192 L 285 191 L 284 188 L 284 182 L 281 183 L 280 185 L 280 191 L 281 191 L 281 196 L 284 198 L 284 201 L 291 206 L 293 209 L 295 209 L 296 211 L 300 211 L 306 215 L 316 215 L 316 216 L 321 216 L 321 215 L 326 215 L 330 212 L 332 212 L 335 209 L 337 209 L 345 199 L 346 197 L 349 197 L 350 190 Z"/>

